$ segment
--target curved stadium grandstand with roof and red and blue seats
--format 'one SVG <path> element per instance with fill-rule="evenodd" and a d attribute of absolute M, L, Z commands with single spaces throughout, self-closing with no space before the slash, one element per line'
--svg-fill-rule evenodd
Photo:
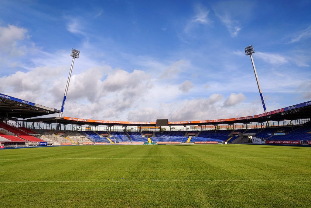
<path fill-rule="evenodd" d="M 156 122 L 33 118 L 60 111 L 4 94 L 0 97 L 0 142 L 4 148 L 92 144 L 311 143 L 311 101 L 259 115 L 169 122 L 167 127 L 157 127 Z"/>

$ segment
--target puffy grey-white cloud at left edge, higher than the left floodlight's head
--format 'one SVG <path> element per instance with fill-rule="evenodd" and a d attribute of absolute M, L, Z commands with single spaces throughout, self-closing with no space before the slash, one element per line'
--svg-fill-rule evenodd
<path fill-rule="evenodd" d="M 9 56 L 25 55 L 26 46 L 20 46 L 19 41 L 29 38 L 28 31 L 25 28 L 8 25 L 7 27 L 0 26 L 0 49 L 2 53 Z"/>

